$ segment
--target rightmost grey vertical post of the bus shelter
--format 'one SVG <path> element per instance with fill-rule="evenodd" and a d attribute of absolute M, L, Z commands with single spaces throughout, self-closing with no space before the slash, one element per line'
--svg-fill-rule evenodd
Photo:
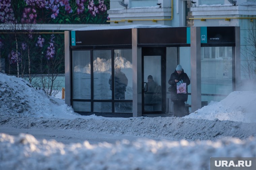
<path fill-rule="evenodd" d="M 233 75 L 233 91 L 238 90 L 241 85 L 241 60 L 240 60 L 240 27 L 235 26 L 235 47 L 233 55 L 232 72 Z"/>

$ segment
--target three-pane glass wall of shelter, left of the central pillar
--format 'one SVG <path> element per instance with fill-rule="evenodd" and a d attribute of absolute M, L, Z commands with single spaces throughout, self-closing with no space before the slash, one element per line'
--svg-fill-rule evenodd
<path fill-rule="evenodd" d="M 93 104 L 93 112 L 112 112 L 114 100 L 114 112 L 132 112 L 132 101 L 127 102 L 127 100 L 132 100 L 132 50 L 113 50 L 114 77 L 116 77 L 114 87 L 117 88 L 112 88 L 111 82 L 111 51 L 111 49 L 72 51 L 72 99 L 75 111 L 91 112 L 91 104 Z M 91 98 L 91 52 L 93 59 L 93 98 Z M 116 68 L 120 70 L 116 70 Z M 120 87 L 123 92 L 120 92 Z M 113 98 L 112 89 L 114 89 Z M 84 100 L 94 100 L 94 102 L 91 103 Z"/>

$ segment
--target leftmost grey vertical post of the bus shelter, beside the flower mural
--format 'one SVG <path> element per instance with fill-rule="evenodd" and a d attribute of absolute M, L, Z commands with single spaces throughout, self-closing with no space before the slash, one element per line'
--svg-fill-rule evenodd
<path fill-rule="evenodd" d="M 70 35 L 69 31 L 64 32 L 65 36 L 65 89 L 66 89 L 66 98 L 65 98 L 65 103 L 70 106 L 71 105 L 71 86 L 70 86 Z"/>

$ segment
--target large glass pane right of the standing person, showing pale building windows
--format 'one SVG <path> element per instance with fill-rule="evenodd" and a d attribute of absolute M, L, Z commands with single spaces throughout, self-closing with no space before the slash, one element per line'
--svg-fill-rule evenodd
<path fill-rule="evenodd" d="M 202 101 L 220 101 L 232 92 L 232 47 L 201 48 Z"/>

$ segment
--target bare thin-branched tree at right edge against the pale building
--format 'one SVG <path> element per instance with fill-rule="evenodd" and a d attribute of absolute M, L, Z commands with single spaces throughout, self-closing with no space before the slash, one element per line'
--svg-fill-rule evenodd
<path fill-rule="evenodd" d="M 245 59 L 245 63 L 241 64 L 241 69 L 244 73 L 247 73 L 250 80 L 256 80 L 256 30 L 254 23 L 251 23 L 248 35 L 245 38 L 247 45 L 241 53 Z"/>

